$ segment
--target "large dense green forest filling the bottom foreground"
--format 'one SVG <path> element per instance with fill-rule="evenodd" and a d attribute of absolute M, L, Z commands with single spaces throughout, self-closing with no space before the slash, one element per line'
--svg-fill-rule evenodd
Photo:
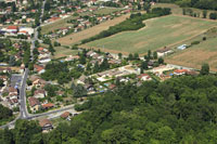
<path fill-rule="evenodd" d="M 217 77 L 184 76 L 141 87 L 120 84 L 115 92 L 92 97 L 69 125 L 41 134 L 35 121 L 18 120 L 1 130 L 2 144 L 215 144 Z"/>

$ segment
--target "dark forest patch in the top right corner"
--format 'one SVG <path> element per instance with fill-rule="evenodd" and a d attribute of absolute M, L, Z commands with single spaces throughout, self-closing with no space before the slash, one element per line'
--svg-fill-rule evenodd
<path fill-rule="evenodd" d="M 158 0 L 158 2 L 173 2 L 180 6 L 192 6 L 205 10 L 217 10 L 216 0 Z"/>

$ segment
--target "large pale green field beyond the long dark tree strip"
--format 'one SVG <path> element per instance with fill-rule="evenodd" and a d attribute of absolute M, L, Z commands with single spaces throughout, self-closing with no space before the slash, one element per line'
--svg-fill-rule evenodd
<path fill-rule="evenodd" d="M 189 16 L 169 15 L 144 22 L 146 26 L 138 31 L 126 31 L 87 43 L 92 48 L 104 48 L 113 52 L 145 53 L 164 47 L 182 44 L 183 41 L 217 26 L 214 21 Z"/>

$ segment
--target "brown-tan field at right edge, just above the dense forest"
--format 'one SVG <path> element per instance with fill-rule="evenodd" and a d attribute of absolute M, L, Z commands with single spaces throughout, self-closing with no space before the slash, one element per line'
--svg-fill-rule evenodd
<path fill-rule="evenodd" d="M 209 64 L 212 71 L 217 71 L 217 38 L 203 41 L 166 57 L 170 64 L 201 69 L 204 63 Z"/>

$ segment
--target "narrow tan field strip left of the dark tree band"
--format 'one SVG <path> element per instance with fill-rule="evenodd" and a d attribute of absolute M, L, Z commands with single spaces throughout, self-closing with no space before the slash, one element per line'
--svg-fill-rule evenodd
<path fill-rule="evenodd" d="M 91 28 L 85 29 L 82 31 L 79 31 L 79 32 L 72 34 L 72 35 L 68 35 L 66 37 L 60 38 L 60 39 L 58 39 L 58 41 L 62 45 L 71 45 L 71 44 L 74 44 L 74 43 L 78 43 L 82 39 L 87 39 L 87 38 L 93 37 L 93 36 L 98 35 L 99 32 L 101 32 L 102 30 L 108 29 L 110 26 L 114 26 L 116 24 L 119 24 L 120 22 L 125 21 L 129 16 L 130 16 L 130 14 L 127 14 L 127 15 L 123 15 L 123 16 L 116 17 L 116 18 L 111 19 L 111 21 L 106 21 L 104 23 L 101 23 L 101 24 L 99 24 L 97 26 L 93 26 Z"/>

